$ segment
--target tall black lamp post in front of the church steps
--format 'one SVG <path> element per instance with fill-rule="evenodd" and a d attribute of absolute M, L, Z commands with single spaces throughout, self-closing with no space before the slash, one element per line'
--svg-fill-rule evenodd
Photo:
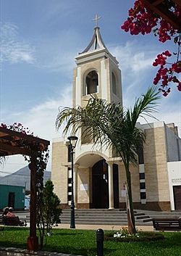
<path fill-rule="evenodd" d="M 72 162 L 72 199 L 70 205 L 70 228 L 75 228 L 75 203 L 74 203 L 74 149 L 77 144 L 77 136 L 69 136 L 67 138 L 70 141 L 70 154 Z"/>

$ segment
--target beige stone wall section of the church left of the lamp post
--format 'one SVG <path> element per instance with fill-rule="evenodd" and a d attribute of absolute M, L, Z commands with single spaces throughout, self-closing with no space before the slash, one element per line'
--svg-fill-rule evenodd
<path fill-rule="evenodd" d="M 54 192 L 61 200 L 61 204 L 67 204 L 68 171 L 66 165 L 67 146 L 63 141 L 52 144 L 51 180 L 54 183 Z"/>

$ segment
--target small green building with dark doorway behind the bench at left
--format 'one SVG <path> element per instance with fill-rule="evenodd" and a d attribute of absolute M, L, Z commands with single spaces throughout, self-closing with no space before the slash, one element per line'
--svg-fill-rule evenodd
<path fill-rule="evenodd" d="M 6 206 L 25 209 L 25 186 L 0 185 L 0 210 Z"/>

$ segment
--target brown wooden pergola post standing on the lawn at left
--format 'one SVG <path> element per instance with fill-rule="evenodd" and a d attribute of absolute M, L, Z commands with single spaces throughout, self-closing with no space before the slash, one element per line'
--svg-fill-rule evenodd
<path fill-rule="evenodd" d="M 30 157 L 30 236 L 27 241 L 29 251 L 38 250 L 38 236 L 36 236 L 36 157 Z"/>

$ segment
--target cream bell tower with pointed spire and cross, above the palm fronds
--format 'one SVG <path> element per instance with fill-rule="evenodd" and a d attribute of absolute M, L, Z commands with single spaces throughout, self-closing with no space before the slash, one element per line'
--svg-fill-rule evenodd
<path fill-rule="evenodd" d="M 101 38 L 98 15 L 94 19 L 93 38 L 84 51 L 75 57 L 77 67 L 73 75 L 73 107 L 84 107 L 90 94 L 108 102 L 122 104 L 121 70 Z"/>

